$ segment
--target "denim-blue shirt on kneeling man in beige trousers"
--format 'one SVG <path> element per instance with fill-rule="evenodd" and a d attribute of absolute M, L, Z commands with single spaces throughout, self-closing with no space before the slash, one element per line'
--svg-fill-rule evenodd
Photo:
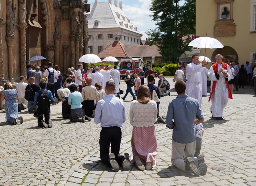
<path fill-rule="evenodd" d="M 191 98 L 187 94 L 181 94 L 169 103 L 165 122 L 169 128 L 173 127 L 175 142 L 191 143 L 195 141 L 193 128 L 195 117 L 198 120 L 204 118 L 197 99 Z"/>

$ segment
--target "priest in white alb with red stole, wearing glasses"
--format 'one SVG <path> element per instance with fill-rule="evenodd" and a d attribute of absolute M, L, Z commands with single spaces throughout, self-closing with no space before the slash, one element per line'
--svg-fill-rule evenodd
<path fill-rule="evenodd" d="M 231 79 L 231 70 L 227 63 L 222 62 L 222 55 L 218 54 L 215 57 L 214 63 L 208 72 L 208 77 L 211 79 L 211 95 L 212 99 L 211 112 L 212 117 L 217 120 L 223 120 L 223 109 L 228 104 L 228 98 L 232 98 L 228 81 Z"/>

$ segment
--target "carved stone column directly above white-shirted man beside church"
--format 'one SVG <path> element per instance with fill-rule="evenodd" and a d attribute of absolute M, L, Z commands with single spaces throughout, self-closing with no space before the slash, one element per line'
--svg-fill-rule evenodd
<path fill-rule="evenodd" d="M 26 28 L 27 23 L 19 23 L 19 37 L 20 37 L 20 74 L 26 78 Z"/>

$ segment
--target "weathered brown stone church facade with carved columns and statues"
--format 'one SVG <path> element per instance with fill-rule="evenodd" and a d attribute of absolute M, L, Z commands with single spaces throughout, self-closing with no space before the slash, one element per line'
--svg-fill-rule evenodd
<path fill-rule="evenodd" d="M 88 52 L 87 12 L 87 0 L 1 0 L 0 85 L 26 78 L 26 64 L 35 55 L 46 59 L 30 64 L 53 62 L 61 72 L 76 68 Z"/>

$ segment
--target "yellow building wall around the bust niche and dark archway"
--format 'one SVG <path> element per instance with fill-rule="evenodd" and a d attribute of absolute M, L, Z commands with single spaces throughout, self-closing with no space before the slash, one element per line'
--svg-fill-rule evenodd
<path fill-rule="evenodd" d="M 233 1 L 233 22 L 232 23 L 216 23 L 217 19 L 217 3 L 214 0 L 196 0 L 196 35 L 201 37 L 214 37 L 214 25 L 218 24 L 236 24 L 236 35 L 216 37 L 224 46 L 233 48 L 238 59 L 236 63 L 245 64 L 246 61 L 252 62 L 252 51 L 256 51 L 255 41 L 256 33 L 250 33 L 250 0 L 235 0 Z M 215 55 L 235 55 L 230 52 L 230 48 L 226 47 L 226 52 L 223 49 L 206 49 L 206 57 L 214 60 Z M 232 53 L 232 54 L 230 54 Z M 201 49 L 201 54 L 204 54 L 204 49 Z"/>

